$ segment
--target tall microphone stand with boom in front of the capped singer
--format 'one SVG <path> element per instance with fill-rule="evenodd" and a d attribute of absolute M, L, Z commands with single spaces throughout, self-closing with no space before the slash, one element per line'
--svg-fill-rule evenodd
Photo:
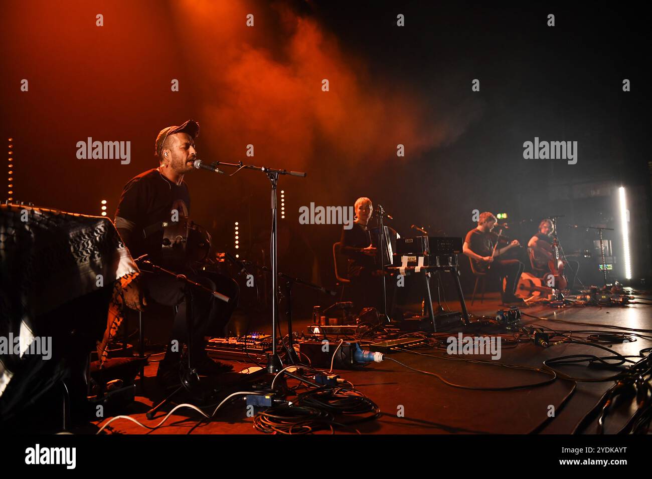
<path fill-rule="evenodd" d="M 274 169 L 268 168 L 266 166 L 254 166 L 254 165 L 245 165 L 243 162 L 238 163 L 224 163 L 224 162 L 213 162 L 211 166 L 231 166 L 237 167 L 237 169 L 231 173 L 230 176 L 235 175 L 241 169 L 255 169 L 256 171 L 262 171 L 269 178 L 271 184 L 271 210 L 272 210 L 272 245 L 270 251 L 270 259 L 272 263 L 272 353 L 267 356 L 267 372 L 274 374 L 280 371 L 283 368 L 280 356 L 278 355 L 278 348 L 276 345 L 276 324 L 278 323 L 278 255 L 277 255 L 277 217 L 276 217 L 276 184 L 278 184 L 279 175 L 291 175 L 295 177 L 306 177 L 306 173 L 301 171 L 288 171 L 286 169 Z"/>

